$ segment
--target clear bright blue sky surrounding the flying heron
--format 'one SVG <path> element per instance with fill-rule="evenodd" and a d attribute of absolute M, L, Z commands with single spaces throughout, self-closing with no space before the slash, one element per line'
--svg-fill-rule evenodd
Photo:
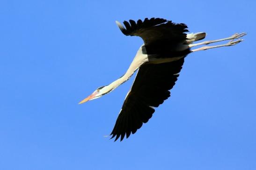
<path fill-rule="evenodd" d="M 1 170 L 255 170 L 253 0 L 1 0 Z M 206 40 L 247 32 L 233 47 L 190 54 L 172 96 L 135 135 L 113 142 L 134 76 L 78 105 L 124 74 L 142 40 L 115 21 L 161 17 Z"/>

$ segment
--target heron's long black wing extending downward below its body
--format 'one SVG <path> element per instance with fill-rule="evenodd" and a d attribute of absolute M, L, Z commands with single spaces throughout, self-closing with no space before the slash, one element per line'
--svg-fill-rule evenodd
<path fill-rule="evenodd" d="M 131 91 L 127 94 L 122 109 L 118 115 L 115 127 L 111 133 L 116 137 L 121 135 L 121 141 L 134 134 L 146 123 L 154 113 L 153 107 L 158 107 L 170 97 L 169 90 L 175 85 L 182 69 L 184 58 L 163 64 L 145 64 L 139 68 Z"/>

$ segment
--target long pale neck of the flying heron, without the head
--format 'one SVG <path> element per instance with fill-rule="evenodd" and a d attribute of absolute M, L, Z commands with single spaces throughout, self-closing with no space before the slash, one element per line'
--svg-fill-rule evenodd
<path fill-rule="evenodd" d="M 142 46 L 141 46 L 142 47 Z M 129 78 L 131 78 L 131 76 L 133 75 L 133 73 L 139 69 L 139 67 L 148 62 L 148 57 L 146 54 L 142 54 L 142 49 L 141 47 L 139 48 L 136 56 L 134 57 L 132 64 L 130 65 L 130 67 L 128 68 L 128 70 L 126 71 L 126 73 L 124 74 L 124 76 L 122 76 L 121 78 L 118 78 L 117 80 L 115 80 L 114 82 L 112 82 L 110 85 L 106 86 L 108 87 L 108 89 L 114 90 L 115 88 L 117 88 L 119 85 L 123 84 L 125 81 L 127 81 Z"/>

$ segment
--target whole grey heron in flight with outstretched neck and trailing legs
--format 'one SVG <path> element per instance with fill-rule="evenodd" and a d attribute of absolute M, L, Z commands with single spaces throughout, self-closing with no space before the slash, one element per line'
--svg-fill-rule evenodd
<path fill-rule="evenodd" d="M 232 46 L 240 43 L 242 39 L 238 38 L 246 35 L 246 33 L 234 34 L 223 39 L 194 43 L 204 39 L 206 33 L 186 34 L 188 27 L 183 23 L 177 24 L 161 18 L 146 18 L 144 21 L 138 20 L 137 22 L 133 20 L 124 21 L 124 26 L 118 21 L 116 23 L 124 35 L 139 36 L 144 43 L 139 47 L 132 64 L 121 78 L 118 78 L 110 85 L 97 88 L 79 103 L 97 99 L 113 91 L 131 78 L 133 73 L 139 69 L 110 134 L 112 135 L 110 139 L 116 136 L 115 141 L 120 136 L 120 141 L 122 141 L 125 135 L 128 138 L 131 133 L 134 134 L 143 123 L 146 123 L 152 117 L 155 111 L 154 108 L 170 97 L 169 90 L 175 85 L 182 69 L 184 58 L 188 54 L 200 50 Z M 221 45 L 190 49 L 198 45 L 225 40 L 231 41 Z"/>

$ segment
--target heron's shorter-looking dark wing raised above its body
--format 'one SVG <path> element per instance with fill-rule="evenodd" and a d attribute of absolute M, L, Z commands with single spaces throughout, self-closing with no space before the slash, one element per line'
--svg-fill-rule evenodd
<path fill-rule="evenodd" d="M 159 41 L 176 42 L 186 39 L 188 28 L 185 24 L 176 24 L 172 21 L 167 21 L 161 18 L 147 18 L 144 21 L 138 20 L 137 23 L 133 20 L 124 21 L 124 26 L 116 21 L 118 27 L 121 29 L 124 35 L 136 35 L 140 36 L 145 45 L 159 43 Z"/>

